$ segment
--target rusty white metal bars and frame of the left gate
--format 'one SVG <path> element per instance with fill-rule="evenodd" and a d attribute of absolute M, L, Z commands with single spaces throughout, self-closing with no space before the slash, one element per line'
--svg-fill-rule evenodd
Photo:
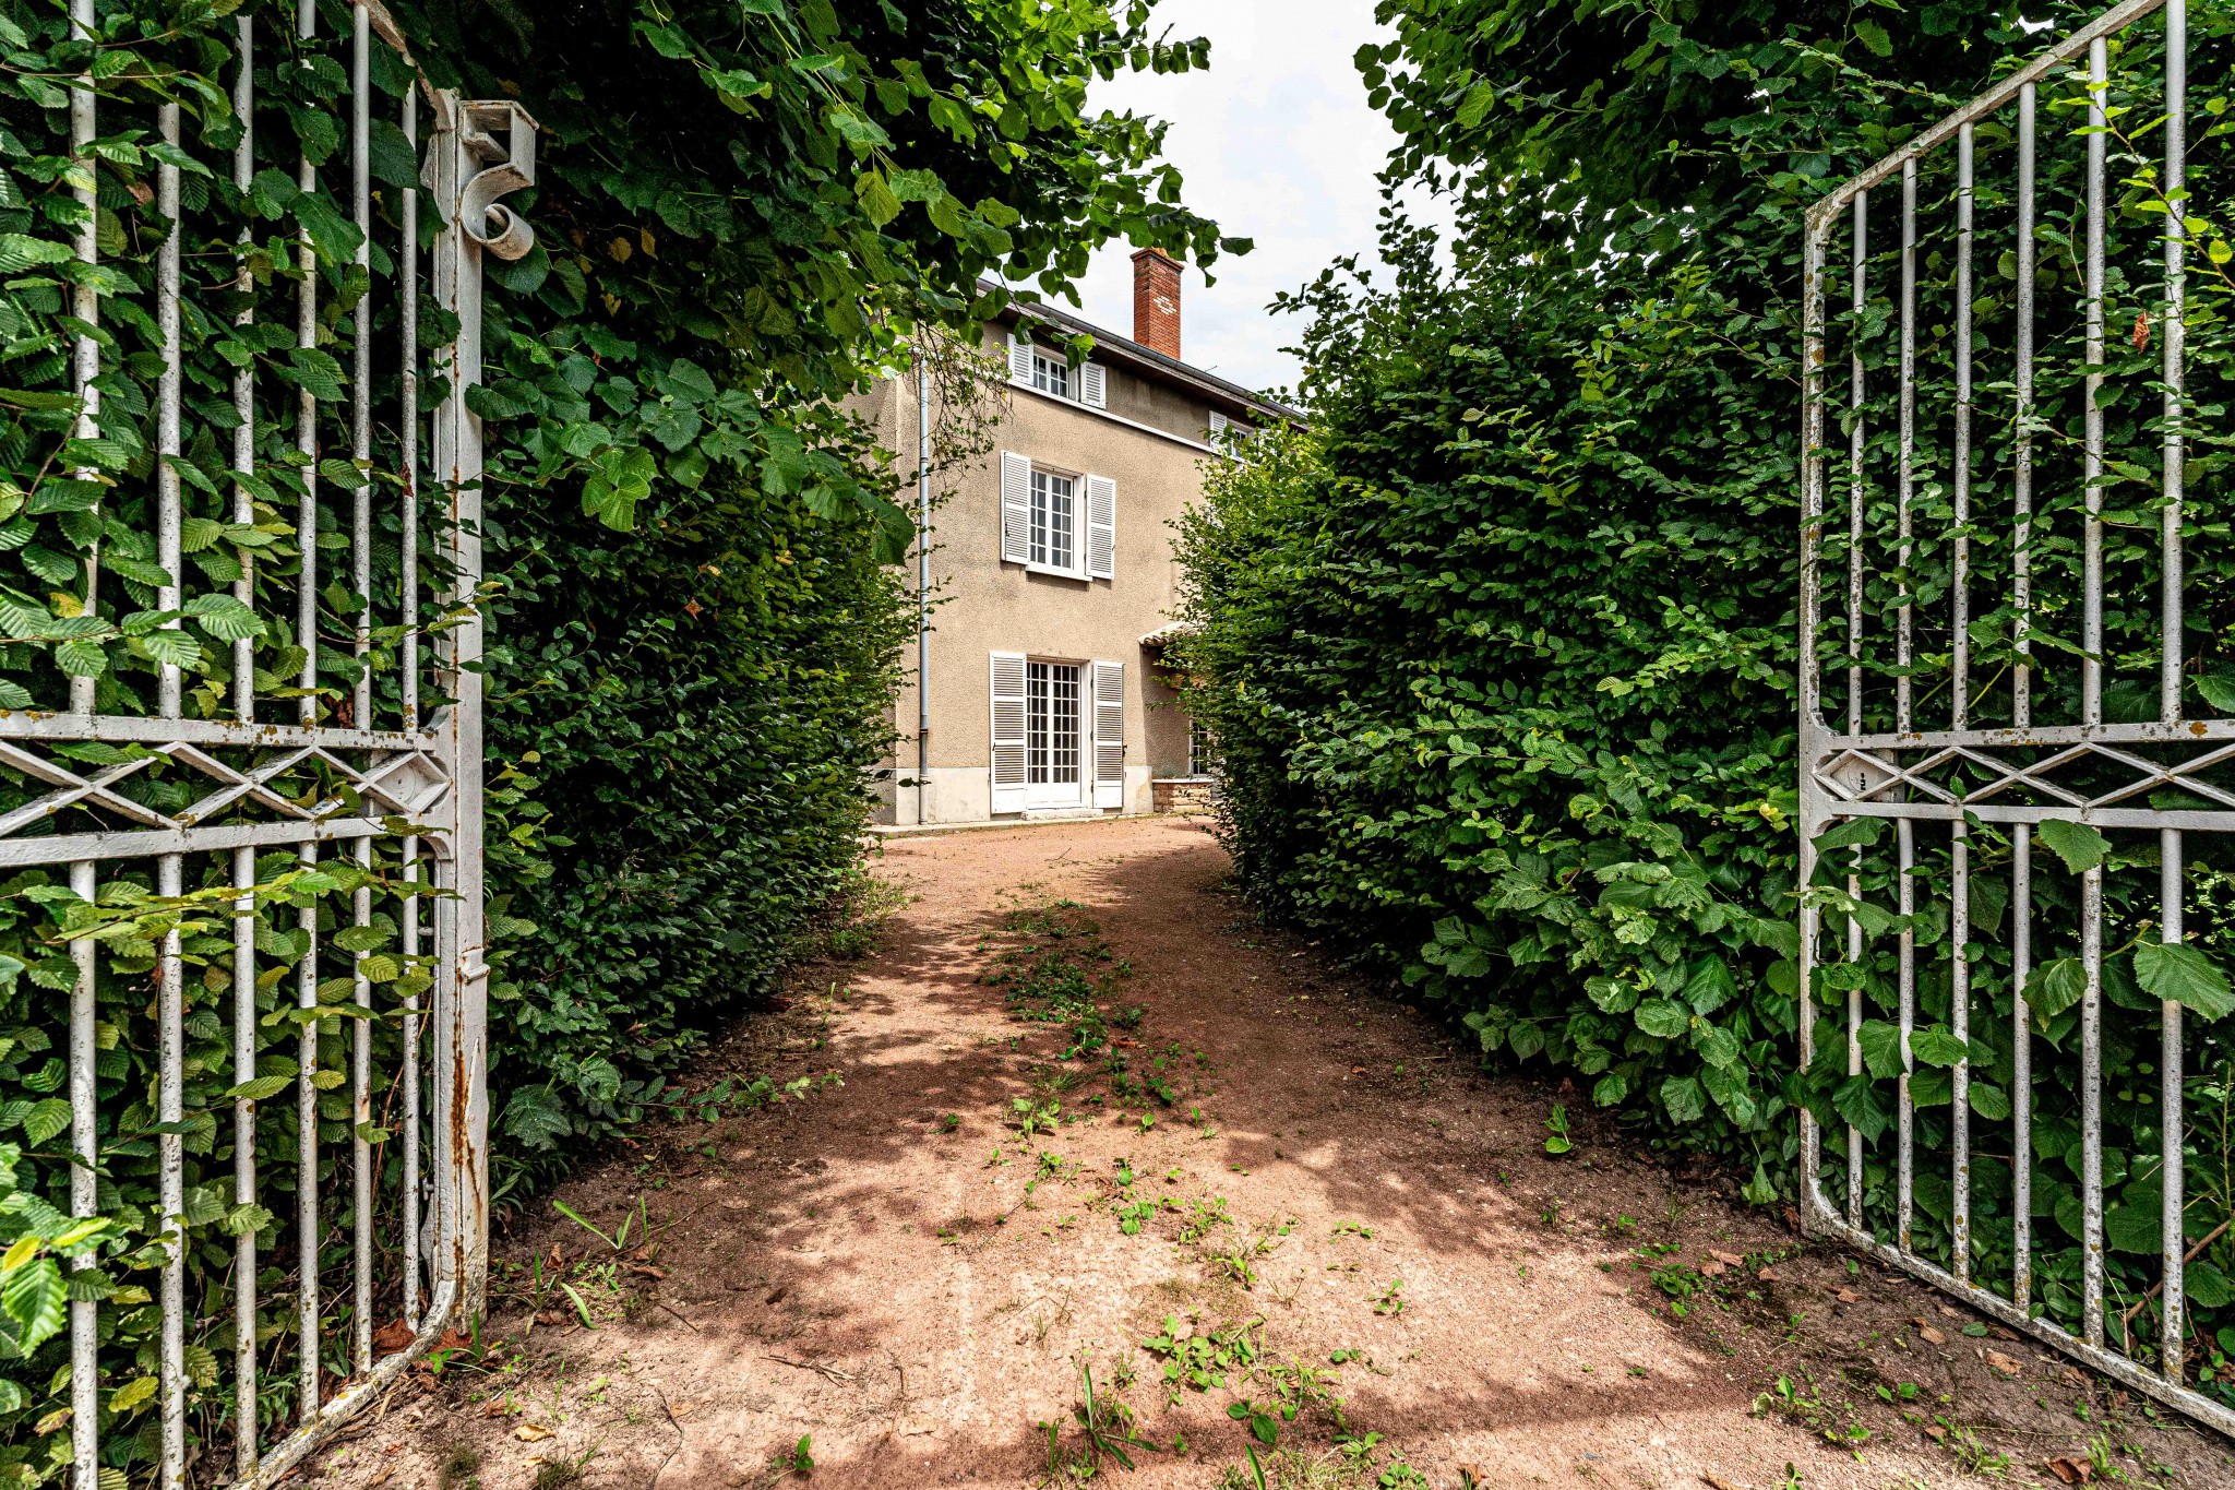
<path fill-rule="evenodd" d="M 72 34 L 92 38 L 96 29 L 94 0 L 72 0 Z M 250 190 L 255 156 L 255 29 L 250 13 L 237 18 L 237 76 L 232 85 L 232 107 L 241 123 L 241 136 L 232 154 L 232 185 L 244 194 Z M 297 0 L 293 42 L 297 49 L 311 47 L 317 36 L 317 9 L 313 0 Z M 375 38 L 378 31 L 378 38 Z M 320 409 L 308 386 L 297 389 L 295 449 L 302 456 L 299 476 L 304 483 L 295 518 L 295 543 L 299 572 L 295 585 L 295 643 L 304 650 L 299 672 L 299 704 L 295 724 L 266 724 L 257 719 L 255 639 L 232 641 L 232 688 L 230 717 L 190 719 L 183 717 L 183 670 L 165 657 L 159 663 L 154 715 L 101 713 L 96 679 L 72 675 L 67 713 L 0 710 L 0 764 L 34 782 L 51 786 L 45 795 L 20 809 L 0 813 L 0 867 L 67 867 L 69 885 L 83 900 L 101 894 L 101 867 L 107 862 L 148 862 L 154 867 L 154 889 L 159 898 L 179 898 L 186 891 L 186 860 L 208 856 L 230 856 L 228 885 L 237 891 L 230 900 L 235 927 L 230 938 L 230 1072 L 237 1088 L 248 1088 L 257 1079 L 257 851 L 291 847 L 299 865 L 320 860 L 322 844 L 333 844 L 358 869 L 375 865 L 375 840 L 393 840 L 396 858 L 402 865 L 402 882 L 411 889 L 400 907 L 400 952 L 405 967 L 422 956 L 420 894 L 425 885 L 434 898 L 434 1007 L 425 1010 L 418 992 L 398 999 L 402 1050 L 400 1050 L 400 1099 L 402 1119 L 398 1137 L 402 1144 L 402 1278 L 400 1314 L 411 1340 L 398 1349 L 375 1349 L 373 1314 L 380 1298 L 375 1278 L 375 1229 L 373 1213 L 380 1191 L 380 1153 L 371 1137 L 373 1124 L 373 1025 L 364 1016 L 349 1016 L 349 1068 L 342 1079 L 349 1086 L 349 1121 L 353 1130 L 349 1155 L 349 1200 L 353 1209 L 349 1253 L 351 1253 L 351 1338 L 349 1378 L 340 1392 L 324 1396 L 320 1383 L 320 1338 L 324 1311 L 320 1300 L 324 1213 L 317 1182 L 320 1164 L 320 1032 L 322 1021 L 302 1021 L 297 1039 L 295 1072 L 295 1179 L 297 1179 L 297 1423 L 293 1432 L 268 1448 L 261 1441 L 264 1425 L 257 1421 L 257 1262 L 259 1247 L 255 1231 L 244 1231 L 232 1244 L 235 1309 L 232 1309 L 232 1414 L 235 1414 L 235 1463 L 232 1477 L 244 1486 L 270 1486 L 299 1463 L 335 1425 L 362 1410 L 378 1392 L 425 1349 L 436 1345 L 443 1329 L 481 1307 L 485 1282 L 487 1247 L 487 1184 L 485 1184 L 485 990 L 487 961 L 483 952 L 483 907 L 481 907 L 481 625 L 474 614 L 481 588 L 481 422 L 465 407 L 465 391 L 481 378 L 481 261 L 483 252 L 516 259 L 530 252 L 532 232 L 527 226 L 496 203 L 498 197 L 521 190 L 534 181 L 534 121 L 514 103 L 467 103 L 456 94 L 427 89 L 436 123 L 427 159 L 425 183 L 434 188 L 445 228 L 434 248 L 436 295 L 445 311 L 458 319 L 458 342 L 436 353 L 438 375 L 445 380 L 445 402 L 434 416 L 436 478 L 447 509 L 443 514 L 443 547 L 447 567 L 454 572 L 454 588 L 445 596 L 445 628 L 436 639 L 438 688 L 447 704 L 431 722 L 420 717 L 420 576 L 418 576 L 418 192 L 400 192 L 400 235 L 396 264 L 400 306 L 400 407 L 396 427 L 400 433 L 400 469 L 396 518 L 400 527 L 400 596 L 396 628 L 400 630 L 400 710 L 393 722 L 375 722 L 380 708 L 371 659 L 375 650 L 373 632 L 373 483 L 367 480 L 375 467 L 373 442 L 373 311 L 371 241 L 378 230 L 373 214 L 371 183 L 371 65 L 373 47 L 389 45 L 405 67 L 413 67 L 402 36 L 393 22 L 380 13 L 373 0 L 353 0 L 349 36 L 349 143 L 351 143 L 351 221 L 360 232 L 355 266 L 364 270 L 369 288 L 353 308 L 355 360 L 349 371 L 349 453 L 358 471 L 346 527 L 349 572 L 353 585 L 355 617 L 351 619 L 351 652 L 358 675 L 346 699 L 346 722 L 322 717 L 320 688 Z M 420 78 L 425 85 L 425 78 Z M 76 257 L 92 266 L 98 261 L 101 239 L 96 232 L 96 163 L 92 143 L 96 139 L 96 85 L 92 74 L 80 74 L 72 87 L 72 154 L 80 165 L 74 192 L 85 208 L 85 221 L 76 239 Z M 181 112 L 177 105 L 156 109 L 156 134 L 170 147 L 181 145 Z M 400 116 L 402 134 L 418 145 L 418 94 L 407 92 Z M 174 156 L 177 159 L 177 156 Z M 172 161 L 159 165 L 154 208 L 170 223 L 170 232 L 156 257 L 156 315 L 161 335 L 161 375 L 156 382 L 156 438 L 154 438 L 154 494 L 156 494 L 156 565 L 163 581 L 156 585 L 156 610 L 168 619 L 163 630 L 181 630 L 181 610 L 188 603 L 183 588 L 183 503 L 181 471 L 183 456 L 183 351 L 181 351 L 181 239 L 186 232 L 181 212 L 181 170 Z M 302 192 L 317 188 L 317 172 L 308 156 L 297 159 L 295 181 Z M 253 295 L 250 273 L 253 228 L 239 228 L 239 268 L 230 286 L 244 297 Z M 308 226 L 295 237 L 297 257 L 297 348 L 315 353 L 320 340 L 317 317 L 317 243 Z M 232 317 L 235 328 L 255 324 L 255 302 L 248 299 Z M 101 436 L 101 391 L 96 380 L 103 373 L 101 344 L 94 328 L 101 319 L 101 297 L 89 277 L 80 277 L 72 293 L 72 313 L 83 322 L 72 346 L 72 391 L 80 400 L 76 438 Z M 253 525 L 257 505 L 257 373 L 255 362 L 237 366 L 230 378 L 232 411 L 239 418 L 230 451 L 230 471 L 239 478 L 230 496 L 235 523 Z M 80 478 L 96 478 L 98 471 L 78 471 Z M 244 605 L 257 603 L 255 558 L 241 552 L 239 576 L 230 583 L 230 596 Z M 85 563 L 83 612 L 98 614 L 101 552 L 94 547 Z M 273 628 L 277 637 L 277 628 Z M 329 690 L 331 695 L 331 690 Z M 329 710 L 331 713 L 331 706 Z M 67 746 L 107 744 L 143 746 L 123 764 L 87 768 L 76 764 Z M 60 751 L 60 760 L 49 757 Z M 203 791 L 186 806 L 168 800 L 150 806 L 114 791 L 118 782 L 139 773 L 148 762 L 161 760 L 172 768 L 186 768 L 203 777 Z M 72 764 L 65 764 L 72 762 Z M 324 775 L 337 786 L 324 797 L 288 797 L 279 784 L 295 775 L 302 786 L 315 775 Z M 188 793 L 192 795 L 192 793 Z M 76 815 L 63 831 L 45 831 L 58 815 Z M 118 824 L 116 820 L 123 820 Z M 31 831 L 25 831 L 31 829 Z M 425 838 L 431 853 L 431 878 L 422 869 L 420 853 Z M 369 887 L 353 894 L 349 907 L 351 927 L 373 925 L 373 891 Z M 295 1007 L 315 1010 L 320 1003 L 320 918 L 315 907 L 304 909 L 297 920 L 299 934 L 308 938 L 308 949 L 299 958 Z M 76 1164 L 72 1168 L 69 1209 L 76 1217 L 92 1217 L 98 1211 L 101 1150 L 101 1099 L 98 1099 L 98 943 L 92 936 L 69 943 L 76 963 L 76 985 L 69 1001 L 69 1144 Z M 351 1001 L 362 1010 L 371 1007 L 375 978 L 369 970 L 369 952 L 351 949 Z M 380 981 L 387 981 L 384 976 Z M 431 1016 L 429 1016 L 431 1014 Z M 186 949 L 181 932 L 170 929 L 156 956 L 156 1166 L 159 1204 L 163 1211 L 163 1251 L 159 1269 L 161 1287 L 161 1334 L 159 1334 L 159 1410 L 161 1410 L 161 1486 L 186 1486 L 190 1474 L 188 1445 L 188 1360 L 186 1336 L 190 1320 L 188 1269 L 188 1222 L 186 1222 L 186 1142 L 183 1142 L 183 1081 L 186 1081 Z M 418 1043 L 434 1037 L 431 1066 L 422 1068 Z M 431 1079 L 429 1079 L 431 1077 Z M 431 1086 L 431 1110 L 422 1112 L 420 1083 Z M 232 1197 L 235 1204 L 259 1200 L 257 1175 L 257 1099 L 235 1095 L 232 1101 Z M 422 1148 L 422 1117 L 431 1117 L 431 1150 Z M 431 1197 L 434 1249 L 422 1255 L 422 1186 Z M 431 1271 L 431 1291 L 422 1289 L 420 1269 Z M 74 1267 L 94 1267 L 92 1253 L 74 1260 Z M 69 1305 L 69 1383 L 72 1383 L 72 1461 L 78 1490 L 98 1490 L 101 1474 L 101 1354 L 98 1311 L 92 1296 L 74 1298 Z"/>

